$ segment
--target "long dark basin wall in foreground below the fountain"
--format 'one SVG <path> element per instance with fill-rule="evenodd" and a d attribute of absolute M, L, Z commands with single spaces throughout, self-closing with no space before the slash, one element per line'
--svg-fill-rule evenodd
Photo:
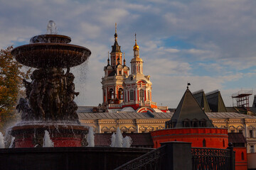
<path fill-rule="evenodd" d="M 146 148 L 41 147 L 0 149 L 1 170 L 114 169 L 142 154 Z"/>

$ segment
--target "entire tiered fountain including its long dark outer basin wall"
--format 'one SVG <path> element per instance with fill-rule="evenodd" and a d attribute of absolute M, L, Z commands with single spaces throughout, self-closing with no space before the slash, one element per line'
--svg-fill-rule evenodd
<path fill-rule="evenodd" d="M 78 92 L 70 67 L 85 62 L 91 52 L 68 44 L 71 38 L 57 35 L 55 30 L 55 23 L 50 21 L 46 35 L 37 35 L 29 45 L 11 52 L 18 62 L 36 70 L 31 82 L 24 80 L 26 98 L 20 98 L 16 107 L 21 112 L 21 121 L 9 128 L 14 148 L 3 148 L 3 141 L 0 144 L 0 169 L 108 170 L 151 151 L 150 148 L 85 147 L 89 128 L 78 121 L 78 106 L 73 101 Z"/>

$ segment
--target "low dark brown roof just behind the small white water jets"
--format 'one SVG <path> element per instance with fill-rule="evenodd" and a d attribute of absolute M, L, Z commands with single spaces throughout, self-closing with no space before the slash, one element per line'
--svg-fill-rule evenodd
<path fill-rule="evenodd" d="M 150 133 L 126 133 L 123 137 L 129 136 L 132 138 L 131 147 L 153 147 L 154 143 Z M 111 133 L 95 133 L 95 146 L 108 147 L 111 144 Z"/>

